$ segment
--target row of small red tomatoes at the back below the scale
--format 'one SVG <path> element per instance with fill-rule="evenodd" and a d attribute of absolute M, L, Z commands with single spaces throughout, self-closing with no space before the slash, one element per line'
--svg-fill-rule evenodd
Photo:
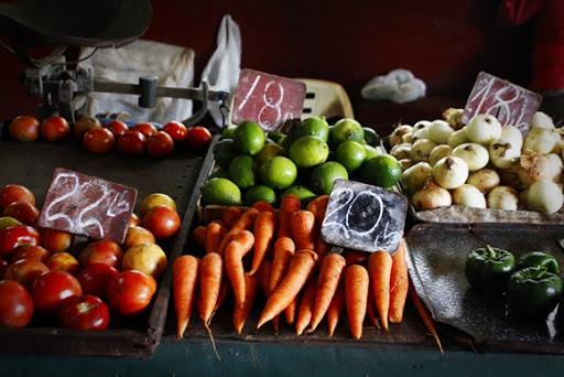
<path fill-rule="evenodd" d="M 120 120 L 112 120 L 102 127 L 91 116 L 82 117 L 73 128 L 63 117 L 50 117 L 40 122 L 32 116 L 19 116 L 10 123 L 9 131 L 13 139 L 25 142 L 35 141 L 40 136 L 43 140 L 56 142 L 68 139 L 74 133 L 91 153 L 105 154 L 117 149 L 123 154 L 147 153 L 154 158 L 170 155 L 178 146 L 204 150 L 213 139 L 207 128 L 186 128 L 180 121 L 170 121 L 162 129 L 150 122 L 139 122 L 130 128 Z"/>

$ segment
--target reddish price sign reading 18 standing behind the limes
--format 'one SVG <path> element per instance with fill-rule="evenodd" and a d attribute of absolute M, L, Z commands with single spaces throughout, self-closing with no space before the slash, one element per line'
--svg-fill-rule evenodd
<path fill-rule="evenodd" d="M 235 90 L 231 121 L 259 123 L 265 131 L 288 132 L 302 118 L 305 84 L 259 71 L 242 69 Z"/>

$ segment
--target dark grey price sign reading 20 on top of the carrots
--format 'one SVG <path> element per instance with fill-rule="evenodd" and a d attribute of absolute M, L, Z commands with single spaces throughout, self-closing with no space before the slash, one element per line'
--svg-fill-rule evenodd
<path fill-rule="evenodd" d="M 325 241 L 356 250 L 398 251 L 408 213 L 405 196 L 359 182 L 335 180 L 322 224 Z"/>

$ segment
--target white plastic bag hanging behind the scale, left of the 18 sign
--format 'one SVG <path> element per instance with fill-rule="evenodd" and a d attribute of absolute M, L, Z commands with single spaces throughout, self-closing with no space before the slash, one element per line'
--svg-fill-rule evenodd
<path fill-rule="evenodd" d="M 202 72 L 202 80 L 207 82 L 210 90 L 229 91 L 232 99 L 241 73 L 241 32 L 239 25 L 226 14 L 217 33 L 217 47 Z M 209 101 L 208 111 L 216 125 L 223 127 L 219 103 Z"/>

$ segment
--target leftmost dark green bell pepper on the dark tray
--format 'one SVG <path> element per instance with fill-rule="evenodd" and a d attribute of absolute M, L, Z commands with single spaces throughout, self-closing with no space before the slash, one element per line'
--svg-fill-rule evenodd
<path fill-rule="evenodd" d="M 513 273 L 516 258 L 510 251 L 486 246 L 470 251 L 464 272 L 475 289 L 500 294 L 506 291 L 507 279 Z"/>

